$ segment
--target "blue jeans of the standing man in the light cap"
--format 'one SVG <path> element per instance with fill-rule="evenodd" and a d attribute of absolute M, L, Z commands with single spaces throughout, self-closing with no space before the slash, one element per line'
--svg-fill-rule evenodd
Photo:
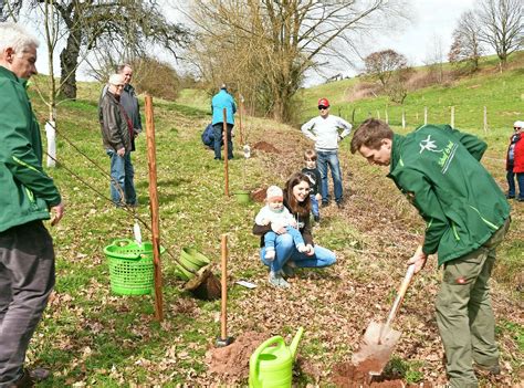
<path fill-rule="evenodd" d="M 111 158 L 111 199 L 116 206 L 136 205 L 135 183 L 133 182 L 135 170 L 130 161 L 130 153 L 126 153 L 124 156 L 118 156 L 113 149 L 106 149 L 106 153 Z M 124 192 L 124 198 L 122 198 L 122 192 Z"/>

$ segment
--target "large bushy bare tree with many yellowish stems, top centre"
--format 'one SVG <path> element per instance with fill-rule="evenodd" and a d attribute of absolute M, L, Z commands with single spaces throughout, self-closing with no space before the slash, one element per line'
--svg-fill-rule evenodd
<path fill-rule="evenodd" d="M 259 112 L 289 120 L 307 70 L 350 62 L 355 35 L 401 14 L 401 0 L 195 0 L 193 62 L 211 85 L 233 84 Z M 250 95 L 251 93 L 251 95 Z"/>

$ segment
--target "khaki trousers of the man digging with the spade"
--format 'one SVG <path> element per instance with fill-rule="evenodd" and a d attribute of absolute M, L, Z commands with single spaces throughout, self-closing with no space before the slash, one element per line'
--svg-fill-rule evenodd
<path fill-rule="evenodd" d="M 478 387 L 473 361 L 483 366 L 499 364 L 488 281 L 496 247 L 509 227 L 510 219 L 482 247 L 444 263 L 436 310 L 451 387 Z"/>

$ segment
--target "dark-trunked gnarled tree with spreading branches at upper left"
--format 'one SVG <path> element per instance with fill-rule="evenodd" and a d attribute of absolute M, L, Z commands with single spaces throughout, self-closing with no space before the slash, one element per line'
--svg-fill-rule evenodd
<path fill-rule="evenodd" d="M 167 21 L 156 0 L 38 0 L 60 15 L 60 30 L 65 31 L 65 46 L 60 54 L 60 92 L 76 98 L 76 70 L 82 49 L 93 51 L 104 41 L 123 46 L 150 49 L 163 45 L 175 49 L 187 43 L 188 31 Z"/>

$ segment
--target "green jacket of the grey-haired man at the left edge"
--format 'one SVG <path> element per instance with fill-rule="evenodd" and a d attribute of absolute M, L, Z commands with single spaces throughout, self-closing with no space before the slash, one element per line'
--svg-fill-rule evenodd
<path fill-rule="evenodd" d="M 27 81 L 0 66 L 0 232 L 49 219 L 61 202 L 42 168 L 42 140 Z"/>

